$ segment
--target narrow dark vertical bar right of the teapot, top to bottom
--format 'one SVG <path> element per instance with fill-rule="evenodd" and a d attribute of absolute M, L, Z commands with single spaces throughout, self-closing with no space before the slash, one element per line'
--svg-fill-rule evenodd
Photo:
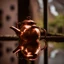
<path fill-rule="evenodd" d="M 44 4 L 44 29 L 47 31 L 47 0 L 43 0 Z M 48 43 L 45 42 L 45 45 L 47 46 L 44 50 L 44 64 L 48 64 Z"/>

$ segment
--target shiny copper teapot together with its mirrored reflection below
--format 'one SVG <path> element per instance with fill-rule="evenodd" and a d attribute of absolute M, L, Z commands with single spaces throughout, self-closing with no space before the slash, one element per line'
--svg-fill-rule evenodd
<path fill-rule="evenodd" d="M 21 51 L 25 58 L 35 60 L 39 54 L 40 48 L 40 28 L 36 26 L 33 20 L 24 20 L 20 29 L 14 26 L 10 27 L 19 37 L 19 46 L 13 51 L 18 53 Z"/>

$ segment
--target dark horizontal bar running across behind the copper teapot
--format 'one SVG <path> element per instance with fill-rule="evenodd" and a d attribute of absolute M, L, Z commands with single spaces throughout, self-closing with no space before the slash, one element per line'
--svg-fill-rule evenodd
<path fill-rule="evenodd" d="M 40 40 L 45 39 L 45 36 L 41 36 Z M 12 41 L 19 40 L 17 36 L 0 36 L 0 41 Z M 64 42 L 64 36 L 46 36 L 47 41 Z"/>

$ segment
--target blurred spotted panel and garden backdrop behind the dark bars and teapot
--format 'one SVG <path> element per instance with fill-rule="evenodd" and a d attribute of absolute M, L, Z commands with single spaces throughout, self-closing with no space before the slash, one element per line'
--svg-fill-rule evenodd
<path fill-rule="evenodd" d="M 30 13 L 37 26 L 43 28 L 43 0 L 30 0 Z M 0 36 L 16 36 L 10 26 L 18 22 L 18 0 L 0 0 Z M 64 35 L 64 0 L 48 0 L 48 33 Z M 43 40 L 40 41 L 44 46 Z M 18 64 L 12 51 L 18 41 L 0 41 L 0 64 Z M 35 64 L 44 64 L 44 51 Z M 64 64 L 64 42 L 48 42 L 48 64 Z"/>

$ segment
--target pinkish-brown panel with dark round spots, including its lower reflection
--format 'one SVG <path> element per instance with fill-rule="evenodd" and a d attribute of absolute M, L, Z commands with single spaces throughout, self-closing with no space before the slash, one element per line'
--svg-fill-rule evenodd
<path fill-rule="evenodd" d="M 17 22 L 17 0 L 0 0 L 0 35 L 15 35 L 9 27 Z M 12 51 L 18 41 L 0 41 L 0 64 L 18 64 L 18 58 Z"/>

